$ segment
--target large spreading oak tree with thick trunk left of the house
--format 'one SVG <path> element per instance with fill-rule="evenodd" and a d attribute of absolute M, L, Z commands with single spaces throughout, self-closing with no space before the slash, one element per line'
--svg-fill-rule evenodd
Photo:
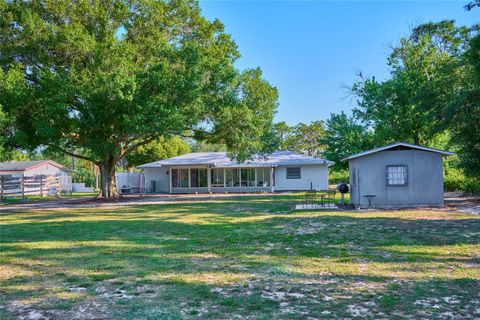
<path fill-rule="evenodd" d="M 160 136 L 225 143 L 239 160 L 265 151 L 277 91 L 238 57 L 196 1 L 0 0 L 10 141 L 94 162 L 104 197 L 118 161 Z"/>

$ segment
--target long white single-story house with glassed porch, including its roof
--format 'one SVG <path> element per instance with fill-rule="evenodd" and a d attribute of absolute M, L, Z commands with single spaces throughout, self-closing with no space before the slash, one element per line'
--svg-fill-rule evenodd
<path fill-rule="evenodd" d="M 149 192 L 274 192 L 328 189 L 332 161 L 291 151 L 238 163 L 225 152 L 194 152 L 138 166 Z"/>

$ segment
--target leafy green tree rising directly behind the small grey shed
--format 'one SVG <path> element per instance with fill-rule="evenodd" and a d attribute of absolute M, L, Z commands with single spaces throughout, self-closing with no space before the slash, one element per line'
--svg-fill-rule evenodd
<path fill-rule="evenodd" d="M 389 79 L 362 78 L 354 84 L 354 113 L 380 143 L 428 146 L 445 131 L 445 110 L 461 88 L 468 35 L 468 28 L 455 27 L 453 21 L 419 25 L 393 48 Z"/>

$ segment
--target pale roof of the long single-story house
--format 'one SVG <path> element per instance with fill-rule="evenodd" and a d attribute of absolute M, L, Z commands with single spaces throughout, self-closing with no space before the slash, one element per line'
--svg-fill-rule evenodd
<path fill-rule="evenodd" d="M 266 157 L 253 157 L 252 160 L 243 163 L 231 160 L 226 152 L 192 152 L 178 157 L 142 164 L 137 168 L 192 165 L 207 165 L 213 167 L 276 167 L 280 165 L 314 164 L 332 165 L 334 162 L 292 151 L 275 151 Z"/>

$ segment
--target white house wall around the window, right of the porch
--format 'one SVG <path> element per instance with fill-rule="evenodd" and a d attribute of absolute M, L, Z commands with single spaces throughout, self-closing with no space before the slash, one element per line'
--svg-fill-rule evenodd
<path fill-rule="evenodd" d="M 287 179 L 287 168 L 295 166 L 279 166 L 275 168 L 275 190 L 327 190 L 328 166 L 308 165 L 300 167 L 300 179 Z M 298 167 L 298 166 L 296 166 Z M 311 184 L 311 185 L 310 185 Z"/>

